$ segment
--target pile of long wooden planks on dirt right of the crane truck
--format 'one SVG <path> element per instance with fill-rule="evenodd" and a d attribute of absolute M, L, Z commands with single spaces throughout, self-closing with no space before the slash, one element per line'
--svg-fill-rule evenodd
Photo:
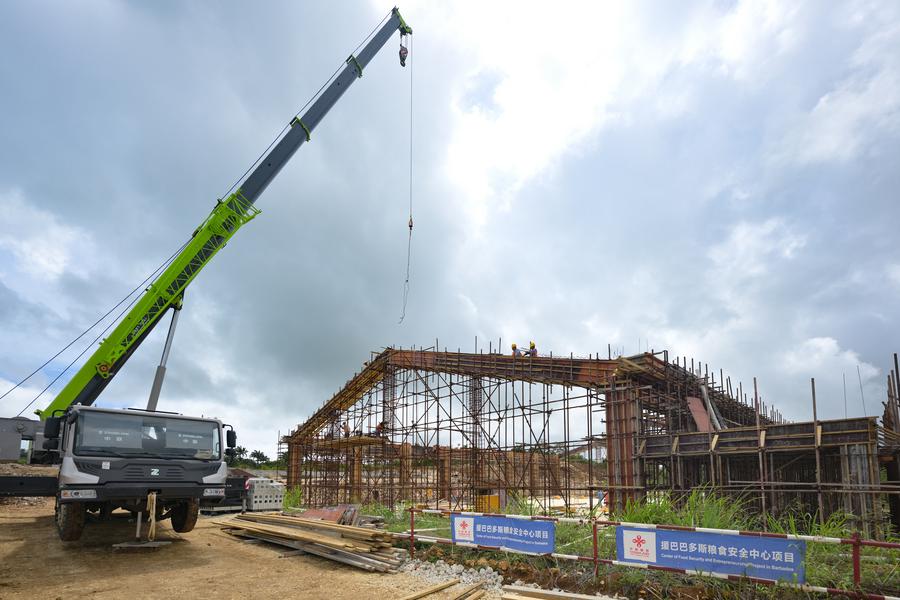
<path fill-rule="evenodd" d="M 301 550 L 366 571 L 394 573 L 406 551 L 394 548 L 390 532 L 338 525 L 279 513 L 244 513 L 216 521 L 235 536 Z"/>

